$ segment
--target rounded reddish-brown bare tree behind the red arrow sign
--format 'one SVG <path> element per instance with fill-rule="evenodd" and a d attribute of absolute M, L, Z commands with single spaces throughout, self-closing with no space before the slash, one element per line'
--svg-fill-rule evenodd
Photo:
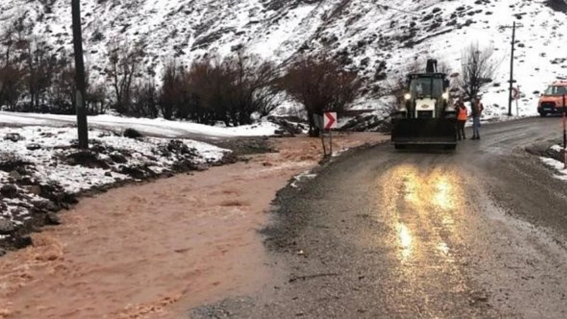
<path fill-rule="evenodd" d="M 329 57 L 303 57 L 293 63 L 282 79 L 282 87 L 307 110 L 310 134 L 318 136 L 314 114 L 341 113 L 357 96 L 361 80 Z"/>

